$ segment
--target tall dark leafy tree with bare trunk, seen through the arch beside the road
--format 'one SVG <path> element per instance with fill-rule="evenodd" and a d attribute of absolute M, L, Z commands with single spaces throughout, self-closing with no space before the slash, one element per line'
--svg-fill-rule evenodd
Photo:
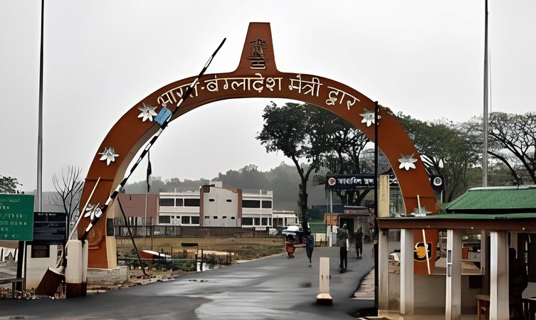
<path fill-rule="evenodd" d="M 283 107 L 272 102 L 264 108 L 263 119 L 263 130 L 256 139 L 266 146 L 267 152 L 282 151 L 300 175 L 299 208 L 302 228 L 307 234 L 307 186 L 311 173 L 320 169 L 329 150 L 330 119 L 315 105 L 292 102 Z M 306 159 L 307 164 L 300 163 L 300 159 Z"/>

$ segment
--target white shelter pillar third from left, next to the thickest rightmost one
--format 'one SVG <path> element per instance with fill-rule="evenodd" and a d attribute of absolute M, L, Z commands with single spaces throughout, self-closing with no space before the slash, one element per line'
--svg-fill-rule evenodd
<path fill-rule="evenodd" d="M 461 233 L 447 230 L 445 319 L 461 317 Z"/>

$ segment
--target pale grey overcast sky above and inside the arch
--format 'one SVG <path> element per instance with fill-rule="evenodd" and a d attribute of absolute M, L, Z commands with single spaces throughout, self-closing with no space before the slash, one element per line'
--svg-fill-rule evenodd
<path fill-rule="evenodd" d="M 536 1 L 490 0 L 489 12 L 491 111 L 533 111 Z M 0 175 L 23 191 L 37 186 L 40 18 L 39 0 L 0 0 Z M 270 23 L 280 71 L 337 80 L 421 120 L 483 113 L 484 0 L 46 0 L 43 191 L 62 166 L 85 177 L 115 122 L 197 75 L 223 38 L 207 73 L 235 70 L 250 22 Z M 291 164 L 255 139 L 269 103 L 226 100 L 174 120 L 151 149 L 153 175 L 210 179 Z"/>

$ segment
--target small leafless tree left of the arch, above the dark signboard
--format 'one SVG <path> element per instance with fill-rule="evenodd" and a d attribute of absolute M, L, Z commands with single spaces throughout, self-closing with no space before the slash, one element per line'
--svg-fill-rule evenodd
<path fill-rule="evenodd" d="M 83 181 L 80 180 L 81 171 L 82 169 L 76 166 L 66 166 L 66 168 L 62 166 L 61 180 L 58 179 L 56 174 L 52 176 L 52 183 L 58 192 L 56 197 L 53 197 L 53 204 L 61 206 L 65 210 L 67 225 L 69 226 L 68 233 L 73 228 L 80 210 L 80 196 L 84 186 Z"/>

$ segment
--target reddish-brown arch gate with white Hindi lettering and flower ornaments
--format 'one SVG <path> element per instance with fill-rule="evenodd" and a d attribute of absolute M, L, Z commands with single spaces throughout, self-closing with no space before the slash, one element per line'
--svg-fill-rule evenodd
<path fill-rule="evenodd" d="M 90 203 L 95 205 L 107 201 L 125 177 L 137 151 L 160 128 L 152 117 L 147 117 L 147 106 L 158 106 L 153 110 L 156 113 L 162 110 L 162 105 L 174 111 L 195 78 L 161 87 L 117 121 L 95 153 L 80 203 L 88 201 L 95 184 Z M 391 110 L 380 106 L 379 120 L 375 123 L 374 102 L 352 87 L 317 75 L 277 70 L 269 23 L 250 23 L 238 68 L 232 73 L 203 75 L 171 120 L 210 102 L 241 97 L 286 98 L 317 105 L 347 119 L 372 142 L 374 126 L 378 125 L 379 148 L 389 159 L 399 181 L 406 212 L 411 213 L 417 208 L 418 196 L 421 207 L 436 212 L 436 198 L 429 175 L 412 140 Z M 145 121 L 147 119 L 149 121 Z M 115 209 L 116 206 L 110 206 L 88 234 L 88 267 L 110 269 L 117 266 L 115 236 L 107 235 L 106 228 L 106 218 L 115 217 Z M 78 234 L 82 235 L 89 224 L 90 218 L 80 220 Z"/>

